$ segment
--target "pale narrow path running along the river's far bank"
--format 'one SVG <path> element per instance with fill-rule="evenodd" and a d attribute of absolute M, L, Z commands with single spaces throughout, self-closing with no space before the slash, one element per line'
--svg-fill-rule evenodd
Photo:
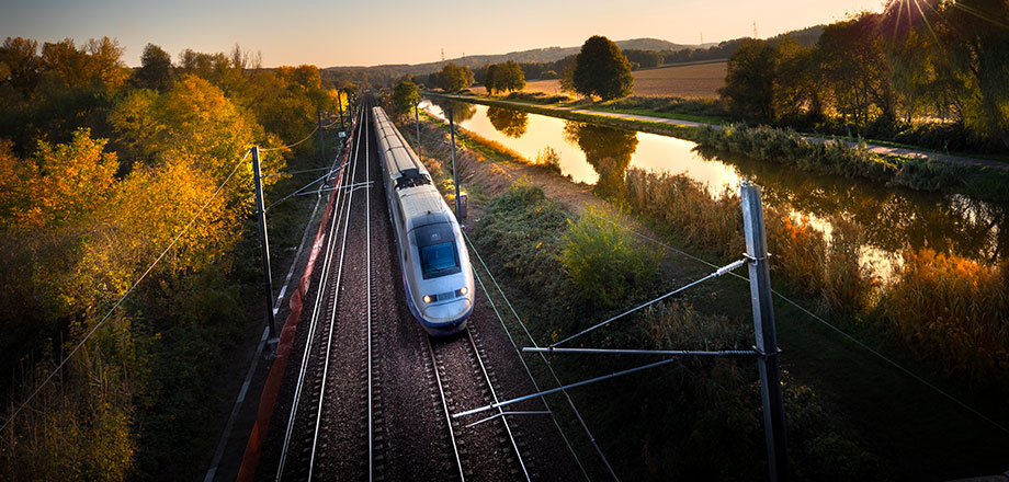
<path fill-rule="evenodd" d="M 465 101 L 465 102 L 474 102 L 478 104 L 486 103 L 486 101 L 483 99 L 468 96 L 468 95 L 444 95 L 444 96 L 449 99 L 454 99 L 454 100 Z M 529 102 L 504 101 L 504 100 L 499 100 L 499 99 L 495 99 L 494 102 L 514 105 L 517 107 L 533 105 L 537 108 L 543 108 L 546 111 L 575 112 L 579 114 L 598 115 L 598 116 L 619 118 L 619 119 L 625 119 L 625 120 L 638 120 L 638 122 L 648 122 L 648 123 L 656 123 L 656 124 L 666 124 L 666 125 L 680 126 L 680 127 L 711 127 L 713 129 L 722 128 L 722 126 L 717 124 L 704 124 L 704 123 L 698 123 L 693 120 L 680 120 L 680 119 L 673 119 L 673 118 L 653 117 L 653 116 L 638 115 L 638 114 L 622 114 L 622 113 L 616 113 L 616 112 L 593 111 L 590 108 L 582 108 L 582 107 L 564 107 L 564 106 L 557 106 L 557 105 L 530 104 Z M 834 139 L 827 139 L 824 137 L 816 137 L 816 136 L 803 136 L 803 139 L 810 141 L 810 142 L 834 142 L 835 141 Z M 857 147 L 859 145 L 859 142 L 855 142 L 853 140 L 844 140 L 843 142 L 848 147 Z M 971 158 L 966 156 L 945 154 L 941 152 L 933 152 L 933 151 L 920 150 L 920 149 L 906 149 L 906 148 L 899 148 L 899 147 L 889 147 L 889 146 L 883 146 L 878 144 L 866 144 L 865 148 L 870 152 L 874 152 L 877 154 L 884 154 L 884 156 L 903 156 L 903 157 L 915 158 L 915 159 L 931 159 L 933 161 L 948 162 L 952 164 L 974 165 L 978 168 L 1000 169 L 1000 170 L 1009 171 L 1009 163 L 1000 162 L 1000 161 L 993 161 L 988 159 Z"/>

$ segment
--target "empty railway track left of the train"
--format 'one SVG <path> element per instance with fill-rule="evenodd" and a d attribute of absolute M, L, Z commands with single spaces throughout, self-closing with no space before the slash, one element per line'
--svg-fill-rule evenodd
<path fill-rule="evenodd" d="M 361 378 L 364 379 L 364 387 L 370 387 L 367 362 L 371 353 L 363 331 L 371 324 L 371 312 L 367 299 L 354 299 L 360 298 L 362 290 L 349 286 L 360 284 L 361 268 L 367 269 L 367 252 L 355 249 L 362 242 L 364 245 L 369 242 L 369 231 L 358 229 L 362 218 L 365 225 L 370 221 L 367 200 L 362 207 L 359 193 L 361 187 L 365 188 L 365 193 L 370 187 L 369 129 L 364 112 L 362 110 L 358 116 L 353 151 L 343 168 L 344 175 L 333 186 L 338 191 L 336 206 L 327 230 L 320 284 L 309 318 L 307 341 L 275 472 L 276 480 L 310 480 L 320 467 L 324 472 L 328 472 L 331 469 L 328 466 L 342 464 L 341 459 L 331 457 L 332 452 L 349 450 L 356 456 L 362 446 L 366 450 L 371 445 L 370 429 L 366 429 L 367 436 L 360 437 L 364 440 L 340 437 L 341 434 L 359 432 L 359 427 L 339 426 L 348 418 L 343 416 L 344 413 L 335 413 L 371 404 L 370 390 L 353 387 L 358 383 L 356 379 Z M 360 239 L 362 236 L 364 240 Z M 369 283 L 367 278 L 365 274 L 365 284 Z M 370 286 L 364 290 L 365 297 L 370 290 Z M 365 310 L 363 317 L 359 312 L 362 307 Z M 353 323 L 360 326 L 351 324 L 362 318 L 363 323 Z M 354 391 L 361 392 L 358 398 L 364 400 L 333 403 L 333 399 L 345 400 L 347 393 Z M 354 420 L 364 417 L 371 420 L 366 415 Z"/>

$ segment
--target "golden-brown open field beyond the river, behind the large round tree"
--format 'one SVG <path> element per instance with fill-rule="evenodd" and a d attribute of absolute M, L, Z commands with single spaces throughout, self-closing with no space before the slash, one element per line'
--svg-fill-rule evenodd
<path fill-rule="evenodd" d="M 634 72 L 634 94 L 644 97 L 678 96 L 683 99 L 717 99 L 718 88 L 725 84 L 727 62 L 692 64 L 661 67 Z M 487 91 L 483 87 L 469 88 L 478 94 Z M 534 80 L 524 89 L 526 92 L 560 93 L 560 80 Z"/>

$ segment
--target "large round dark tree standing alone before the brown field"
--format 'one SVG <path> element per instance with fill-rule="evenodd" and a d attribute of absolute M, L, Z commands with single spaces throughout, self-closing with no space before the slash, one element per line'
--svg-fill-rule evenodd
<path fill-rule="evenodd" d="M 572 74 L 575 92 L 610 100 L 631 95 L 631 62 L 612 41 L 594 35 L 581 46 Z"/>

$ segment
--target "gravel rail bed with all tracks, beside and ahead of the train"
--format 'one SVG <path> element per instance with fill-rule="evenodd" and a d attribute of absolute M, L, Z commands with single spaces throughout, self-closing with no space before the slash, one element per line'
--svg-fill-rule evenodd
<path fill-rule="evenodd" d="M 285 376 L 290 405 L 275 412 L 274 457 L 257 480 L 531 480 L 507 416 L 451 417 L 497 401 L 500 385 L 473 324 L 429 338 L 407 308 L 364 104 Z"/>

